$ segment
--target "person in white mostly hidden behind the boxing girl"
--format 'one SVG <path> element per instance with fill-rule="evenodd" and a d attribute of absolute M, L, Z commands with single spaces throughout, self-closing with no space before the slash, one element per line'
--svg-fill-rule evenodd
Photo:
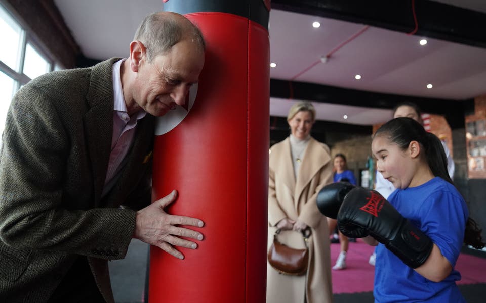
<path fill-rule="evenodd" d="M 400 103 L 395 108 L 393 108 L 393 118 L 399 117 L 409 117 L 420 123 L 420 125 L 424 125 L 424 121 L 422 120 L 422 112 L 420 111 L 419 107 L 412 102 L 404 102 Z M 453 179 L 454 177 L 454 160 L 451 157 L 451 151 L 447 146 L 446 142 L 440 141 L 442 143 L 442 147 L 444 148 L 444 152 L 446 153 L 447 157 L 447 171 L 449 173 L 449 177 Z M 393 184 L 388 180 L 383 178 L 383 175 L 377 171 L 376 173 L 376 186 L 375 190 L 378 191 L 385 199 L 395 190 Z M 375 265 L 376 262 L 376 251 L 370 256 L 368 261 L 371 265 Z"/>

